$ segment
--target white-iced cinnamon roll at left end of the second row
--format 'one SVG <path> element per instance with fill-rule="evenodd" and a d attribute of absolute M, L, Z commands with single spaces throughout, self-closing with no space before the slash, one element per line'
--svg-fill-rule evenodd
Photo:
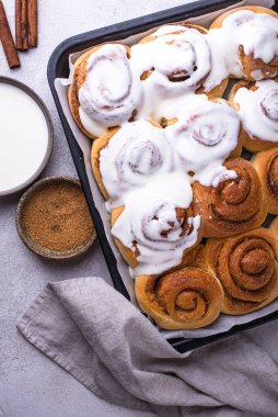
<path fill-rule="evenodd" d="M 91 159 L 100 190 L 112 202 L 174 168 L 164 131 L 144 120 L 126 123 L 94 140 Z"/>

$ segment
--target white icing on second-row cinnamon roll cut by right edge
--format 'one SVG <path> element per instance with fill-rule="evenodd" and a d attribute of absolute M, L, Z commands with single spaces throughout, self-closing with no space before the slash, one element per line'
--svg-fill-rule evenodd
<path fill-rule="evenodd" d="M 278 142 L 278 83 L 264 80 L 255 86 L 255 91 L 242 87 L 234 95 L 243 127 L 251 137 Z"/>

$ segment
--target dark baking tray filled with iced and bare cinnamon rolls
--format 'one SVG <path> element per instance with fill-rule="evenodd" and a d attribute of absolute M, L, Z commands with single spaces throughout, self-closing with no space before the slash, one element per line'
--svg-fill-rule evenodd
<path fill-rule="evenodd" d="M 114 284 L 127 295 L 112 240 L 139 308 L 177 331 L 278 300 L 278 14 L 235 7 L 205 27 L 190 16 L 230 2 L 197 4 L 73 37 L 48 67 Z"/>

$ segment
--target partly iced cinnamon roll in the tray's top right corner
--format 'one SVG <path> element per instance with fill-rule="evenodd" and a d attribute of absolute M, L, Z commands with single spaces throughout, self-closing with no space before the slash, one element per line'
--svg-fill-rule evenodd
<path fill-rule="evenodd" d="M 208 84 L 228 74 L 247 80 L 278 75 L 277 13 L 262 7 L 242 7 L 221 14 L 211 24 L 213 74 Z"/>

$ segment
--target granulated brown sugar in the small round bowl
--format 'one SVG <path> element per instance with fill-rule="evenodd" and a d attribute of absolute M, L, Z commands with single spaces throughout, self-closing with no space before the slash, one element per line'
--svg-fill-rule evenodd
<path fill-rule="evenodd" d="M 93 222 L 79 185 L 44 185 L 26 202 L 23 224 L 30 237 L 50 250 L 70 250 L 86 243 Z"/>

